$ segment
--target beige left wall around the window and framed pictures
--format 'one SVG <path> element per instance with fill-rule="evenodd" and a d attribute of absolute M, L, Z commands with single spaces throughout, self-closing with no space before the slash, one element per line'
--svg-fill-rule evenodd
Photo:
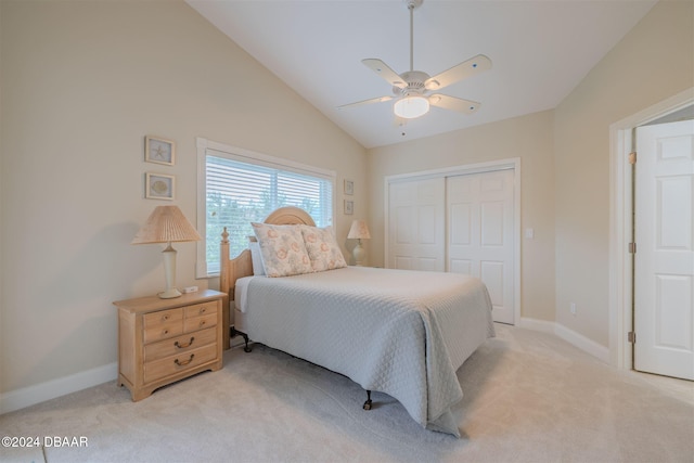
<path fill-rule="evenodd" d="M 145 171 L 175 175 L 195 220 L 195 138 L 337 172 L 365 151 L 182 1 L 2 0 L 0 393 L 116 361 L 113 300 L 164 285 L 162 246 L 129 242 L 160 201 Z M 145 134 L 177 142 L 143 162 Z M 358 188 L 362 214 L 367 190 Z M 337 234 L 352 217 L 337 209 Z M 179 286 L 195 245 L 177 246 Z"/>

